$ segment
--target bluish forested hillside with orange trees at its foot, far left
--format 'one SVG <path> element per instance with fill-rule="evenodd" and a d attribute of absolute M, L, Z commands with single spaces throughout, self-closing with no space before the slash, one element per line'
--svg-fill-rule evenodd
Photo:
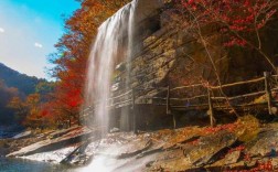
<path fill-rule="evenodd" d="M 0 126 L 21 123 L 28 116 L 31 99 L 40 97 L 38 101 L 45 101 L 53 84 L 0 63 Z"/>

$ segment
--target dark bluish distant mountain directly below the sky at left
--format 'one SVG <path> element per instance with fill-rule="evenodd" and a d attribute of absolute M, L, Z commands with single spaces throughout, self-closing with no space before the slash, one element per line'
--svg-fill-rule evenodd
<path fill-rule="evenodd" d="M 35 86 L 41 82 L 46 82 L 34 76 L 21 74 L 4 64 L 0 63 L 0 80 L 8 87 L 15 87 L 20 93 L 30 95 L 35 92 Z"/>

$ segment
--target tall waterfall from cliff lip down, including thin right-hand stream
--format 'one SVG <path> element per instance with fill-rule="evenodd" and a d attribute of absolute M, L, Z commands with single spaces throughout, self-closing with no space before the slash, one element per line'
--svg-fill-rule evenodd
<path fill-rule="evenodd" d="M 109 118 L 107 99 L 111 96 L 114 69 L 117 63 L 126 62 L 126 76 L 121 84 L 126 83 L 124 87 L 130 89 L 130 61 L 132 54 L 140 51 L 140 49 L 135 50 L 135 45 L 141 42 L 140 34 L 143 30 L 140 25 L 162 6 L 162 0 L 133 0 L 98 28 L 88 62 L 85 107 L 97 105 L 94 110 L 94 127 L 100 127 L 103 136 L 107 133 L 109 122 L 113 122 Z M 129 129 L 128 108 L 121 109 L 120 118 L 120 126 Z"/>

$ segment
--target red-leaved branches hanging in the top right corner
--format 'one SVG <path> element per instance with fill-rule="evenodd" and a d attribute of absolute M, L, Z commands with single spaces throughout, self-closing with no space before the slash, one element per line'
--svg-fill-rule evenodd
<path fill-rule="evenodd" d="M 191 21 L 185 26 L 217 23 L 221 33 L 232 34 L 224 46 L 245 46 L 245 35 L 258 32 L 277 12 L 276 0 L 180 0 L 180 4 Z"/>

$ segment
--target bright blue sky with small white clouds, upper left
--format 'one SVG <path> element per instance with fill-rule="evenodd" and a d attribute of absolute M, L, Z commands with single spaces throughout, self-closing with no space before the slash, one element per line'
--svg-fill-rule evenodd
<path fill-rule="evenodd" d="M 50 78 L 47 55 L 62 36 L 75 0 L 0 0 L 0 62 L 30 76 Z"/>

